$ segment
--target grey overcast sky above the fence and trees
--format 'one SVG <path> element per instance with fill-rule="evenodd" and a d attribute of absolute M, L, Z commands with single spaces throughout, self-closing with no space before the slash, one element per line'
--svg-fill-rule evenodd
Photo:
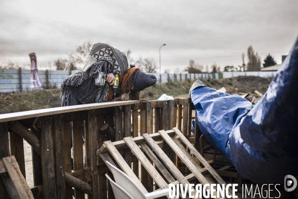
<path fill-rule="evenodd" d="M 298 36 L 298 0 L 0 0 L 0 63 L 38 67 L 66 57 L 84 41 L 106 42 L 161 71 L 241 65 L 249 45 L 277 63 Z M 247 57 L 245 56 L 245 62 Z"/>

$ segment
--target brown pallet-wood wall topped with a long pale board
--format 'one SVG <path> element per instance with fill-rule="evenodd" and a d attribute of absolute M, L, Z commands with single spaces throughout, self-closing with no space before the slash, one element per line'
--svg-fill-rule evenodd
<path fill-rule="evenodd" d="M 34 187 L 31 191 L 39 193 L 34 194 L 34 198 L 72 199 L 74 188 L 75 199 L 84 199 L 85 194 L 89 199 L 107 199 L 108 196 L 113 199 L 105 177 L 109 170 L 96 153 L 107 141 L 100 126 L 105 122 L 114 129 L 115 143 L 123 142 L 125 137 L 143 138 L 138 137 L 139 133 L 151 135 L 177 127 L 196 146 L 196 138 L 190 137 L 193 109 L 190 98 L 181 98 L 115 101 L 0 114 L 0 159 L 15 156 L 26 179 L 25 139 L 32 147 Z M 183 175 L 190 173 L 185 162 L 179 156 L 174 157 L 175 153 L 166 142 L 158 144 L 170 159 L 175 159 L 174 164 Z M 139 159 L 131 149 L 125 147 L 119 153 L 128 165 L 133 165 L 136 176 L 143 183 L 148 182 L 144 187 L 152 190 L 153 179 L 144 166 L 139 168 Z M 86 168 L 83 167 L 84 156 Z M 8 196 L 3 187 L 0 179 L 0 195 Z"/>

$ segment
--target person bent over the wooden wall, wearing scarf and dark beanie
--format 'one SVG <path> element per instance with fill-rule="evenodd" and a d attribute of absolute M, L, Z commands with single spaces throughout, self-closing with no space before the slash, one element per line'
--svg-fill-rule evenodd
<path fill-rule="evenodd" d="M 108 44 L 94 44 L 84 67 L 62 82 L 62 106 L 124 100 L 122 94 L 128 94 L 129 100 L 139 100 L 140 91 L 155 84 L 156 77 L 137 67 L 128 67 L 123 52 Z M 106 74 L 106 84 L 95 86 L 95 78 L 101 72 Z M 114 99 L 112 85 L 116 74 L 119 75 L 119 86 Z"/>

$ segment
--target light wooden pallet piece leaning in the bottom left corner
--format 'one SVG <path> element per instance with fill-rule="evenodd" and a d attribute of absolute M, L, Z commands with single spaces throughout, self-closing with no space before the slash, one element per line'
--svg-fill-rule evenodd
<path fill-rule="evenodd" d="M 14 156 L 0 160 L 0 175 L 11 199 L 34 199 Z"/>

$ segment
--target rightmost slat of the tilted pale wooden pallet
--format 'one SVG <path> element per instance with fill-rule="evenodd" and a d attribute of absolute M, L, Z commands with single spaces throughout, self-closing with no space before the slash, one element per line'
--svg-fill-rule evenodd
<path fill-rule="evenodd" d="M 198 160 L 207 168 L 210 174 L 218 181 L 219 184 L 226 183 L 224 180 L 216 173 L 216 171 L 208 164 L 208 162 L 201 156 L 201 154 L 194 148 L 194 146 L 183 136 L 183 134 L 176 127 L 173 130 L 177 133 L 177 135 L 181 138 L 183 143 L 194 153 L 194 155 L 198 158 Z M 165 135 L 165 133 L 163 133 Z M 231 190 L 229 189 L 229 194 L 231 195 Z"/>

